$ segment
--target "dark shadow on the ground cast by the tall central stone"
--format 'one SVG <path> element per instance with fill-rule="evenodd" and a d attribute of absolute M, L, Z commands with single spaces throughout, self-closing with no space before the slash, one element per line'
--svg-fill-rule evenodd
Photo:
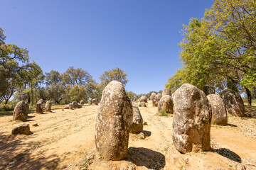
<path fill-rule="evenodd" d="M 125 160 L 154 170 L 163 169 L 166 164 L 164 154 L 144 147 L 129 147 L 128 157 Z"/>

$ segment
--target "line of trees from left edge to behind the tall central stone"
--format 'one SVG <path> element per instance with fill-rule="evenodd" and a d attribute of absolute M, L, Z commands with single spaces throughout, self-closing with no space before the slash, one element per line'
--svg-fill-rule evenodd
<path fill-rule="evenodd" d="M 127 84 L 127 74 L 116 68 L 104 72 L 100 84 L 85 69 L 69 67 L 63 74 L 51 70 L 43 74 L 36 62 L 30 62 L 28 50 L 17 45 L 6 44 L 4 30 L 0 28 L 0 103 L 26 101 L 33 105 L 40 98 L 55 103 L 87 101 L 100 98 L 102 90 L 112 80 Z"/>

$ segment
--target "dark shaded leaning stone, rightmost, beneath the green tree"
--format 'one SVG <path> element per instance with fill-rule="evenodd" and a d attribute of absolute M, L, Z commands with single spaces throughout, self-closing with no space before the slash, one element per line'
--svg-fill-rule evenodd
<path fill-rule="evenodd" d="M 238 117 L 245 115 L 245 106 L 240 94 L 237 91 L 232 91 L 228 88 L 225 88 L 221 92 L 221 97 L 223 98 L 225 110 L 228 114 Z"/>

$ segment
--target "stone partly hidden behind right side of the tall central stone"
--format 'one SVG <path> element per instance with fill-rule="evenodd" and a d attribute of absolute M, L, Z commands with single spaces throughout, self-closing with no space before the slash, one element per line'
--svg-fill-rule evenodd
<path fill-rule="evenodd" d="M 132 120 L 132 133 L 139 133 L 143 131 L 143 118 L 137 105 L 132 103 L 133 120 Z"/>

